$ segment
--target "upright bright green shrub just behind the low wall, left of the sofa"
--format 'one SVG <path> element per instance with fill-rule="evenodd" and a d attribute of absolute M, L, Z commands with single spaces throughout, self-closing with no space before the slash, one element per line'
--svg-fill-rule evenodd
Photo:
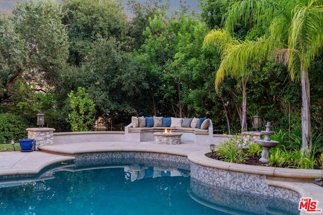
<path fill-rule="evenodd" d="M 95 104 L 88 98 L 85 89 L 79 87 L 77 94 L 73 91 L 68 95 L 72 112 L 69 114 L 68 122 L 71 123 L 72 131 L 87 131 L 95 118 Z"/>

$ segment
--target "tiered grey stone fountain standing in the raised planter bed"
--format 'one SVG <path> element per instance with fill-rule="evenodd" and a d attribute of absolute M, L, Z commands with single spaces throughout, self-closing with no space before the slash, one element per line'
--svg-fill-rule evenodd
<path fill-rule="evenodd" d="M 267 159 L 270 156 L 269 150 L 270 148 L 276 147 L 279 144 L 279 141 L 271 140 L 271 135 L 275 133 L 275 131 L 271 131 L 271 122 L 267 122 L 264 126 L 266 127 L 266 130 L 260 131 L 261 134 L 264 134 L 264 139 L 256 139 L 256 143 L 262 147 L 259 161 L 262 163 L 269 163 Z"/>

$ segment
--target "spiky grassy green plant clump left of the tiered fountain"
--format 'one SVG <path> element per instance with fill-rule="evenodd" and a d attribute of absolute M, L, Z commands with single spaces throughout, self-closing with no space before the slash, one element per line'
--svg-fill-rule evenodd
<path fill-rule="evenodd" d="M 239 136 L 234 136 L 216 146 L 215 154 L 223 161 L 245 164 L 248 158 L 243 150 L 243 145 L 244 140 Z"/>

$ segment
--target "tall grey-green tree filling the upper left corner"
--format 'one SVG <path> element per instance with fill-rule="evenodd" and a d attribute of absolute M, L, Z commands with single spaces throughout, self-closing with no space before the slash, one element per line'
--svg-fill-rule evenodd
<path fill-rule="evenodd" d="M 20 3 L 12 17 L 0 16 L 0 102 L 18 80 L 36 89 L 53 86 L 68 56 L 61 5 L 53 0 Z"/>

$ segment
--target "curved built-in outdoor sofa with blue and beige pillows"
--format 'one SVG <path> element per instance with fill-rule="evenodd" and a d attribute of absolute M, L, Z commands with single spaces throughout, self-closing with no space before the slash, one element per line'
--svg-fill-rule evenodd
<path fill-rule="evenodd" d="M 175 117 L 135 117 L 125 127 L 127 141 L 151 141 L 154 132 L 164 132 L 165 128 L 172 132 L 182 133 L 181 140 L 191 141 L 198 145 L 209 145 L 213 137 L 211 119 L 175 118 Z"/>

